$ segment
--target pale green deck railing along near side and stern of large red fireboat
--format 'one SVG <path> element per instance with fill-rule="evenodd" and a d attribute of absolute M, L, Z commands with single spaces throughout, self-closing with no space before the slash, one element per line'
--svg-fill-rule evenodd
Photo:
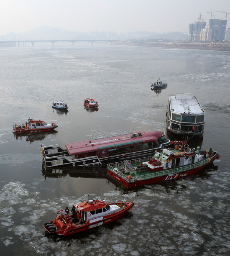
<path fill-rule="evenodd" d="M 162 170 L 160 172 L 153 172 L 153 173 L 150 173 L 150 174 L 144 174 L 144 175 L 130 177 L 130 178 L 119 171 L 119 168 L 124 166 L 124 165 L 122 165 L 122 162 L 115 163 L 117 165 L 108 164 L 107 169 L 109 169 L 111 172 L 117 174 L 119 177 L 125 179 L 128 183 L 132 183 L 132 182 L 135 182 L 135 181 L 141 181 L 141 180 L 161 177 L 161 176 L 165 176 L 165 175 L 169 175 L 169 174 L 177 174 L 177 173 L 180 173 L 180 172 L 185 172 L 185 171 L 188 171 L 190 169 L 198 168 L 199 166 L 207 164 L 208 162 L 210 162 L 210 158 L 203 159 L 203 160 L 201 160 L 197 163 L 194 163 L 194 164 L 184 165 L 184 166 L 181 166 L 181 167 L 178 167 L 178 168 L 173 168 L 173 169 L 165 169 L 165 170 Z M 130 172 L 130 174 L 132 174 L 132 172 Z"/>

